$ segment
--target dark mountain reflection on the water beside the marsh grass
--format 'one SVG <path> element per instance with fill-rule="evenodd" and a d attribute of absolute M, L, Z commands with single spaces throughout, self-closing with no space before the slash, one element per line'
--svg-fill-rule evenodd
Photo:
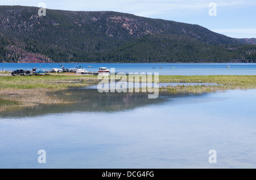
<path fill-rule="evenodd" d="M 83 88 L 73 88 L 57 93 L 55 92 L 55 95 L 61 99 L 64 98 L 74 103 L 38 105 L 34 108 L 0 113 L 0 117 L 27 117 L 68 112 L 112 112 L 133 109 L 150 104 L 159 104 L 167 100 L 167 95 L 164 94 L 162 97 L 149 99 L 148 93 L 100 93 L 97 89 Z"/>

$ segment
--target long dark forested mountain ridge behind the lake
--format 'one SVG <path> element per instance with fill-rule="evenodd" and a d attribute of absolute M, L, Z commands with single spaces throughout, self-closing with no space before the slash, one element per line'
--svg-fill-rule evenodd
<path fill-rule="evenodd" d="M 39 16 L 38 10 L 0 6 L 0 62 L 255 61 L 255 45 L 196 24 L 114 11 L 46 9 Z"/>

